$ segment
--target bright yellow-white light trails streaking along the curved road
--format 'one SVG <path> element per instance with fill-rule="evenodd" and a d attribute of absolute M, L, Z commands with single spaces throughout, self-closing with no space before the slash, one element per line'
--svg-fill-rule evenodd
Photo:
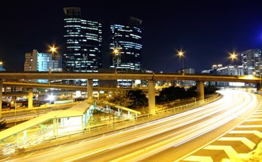
<path fill-rule="evenodd" d="M 138 161 L 145 159 L 166 148 L 179 146 L 210 132 L 239 117 L 248 108 L 257 104 L 256 97 L 250 93 L 240 91 L 220 91 L 220 93 L 223 94 L 221 100 L 191 111 L 134 126 L 97 139 L 86 139 L 70 146 L 60 146 L 56 150 L 43 150 L 30 157 L 19 155 L 10 158 L 10 161 L 45 161 L 43 159 L 88 161 L 88 159 L 96 158 L 104 158 L 104 161 Z"/>

